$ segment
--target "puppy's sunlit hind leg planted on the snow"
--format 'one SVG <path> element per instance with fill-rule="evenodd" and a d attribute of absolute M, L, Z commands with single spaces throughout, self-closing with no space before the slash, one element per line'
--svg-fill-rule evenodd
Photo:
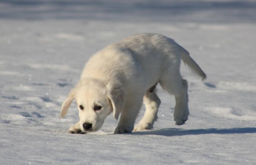
<path fill-rule="evenodd" d="M 151 129 L 153 128 L 154 122 L 157 120 L 157 112 L 161 104 L 161 100 L 154 89 L 152 90 L 151 88 L 146 91 L 143 97 L 143 103 L 145 104 L 146 111 L 140 122 L 134 127 L 133 131 Z"/>

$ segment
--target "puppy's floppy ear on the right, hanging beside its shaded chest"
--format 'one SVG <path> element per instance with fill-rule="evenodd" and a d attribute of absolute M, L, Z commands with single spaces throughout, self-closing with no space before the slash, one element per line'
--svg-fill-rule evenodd
<path fill-rule="evenodd" d="M 125 93 L 121 84 L 112 84 L 107 85 L 106 98 L 111 103 L 113 107 L 113 116 L 117 120 L 119 114 L 124 109 L 125 104 Z"/>

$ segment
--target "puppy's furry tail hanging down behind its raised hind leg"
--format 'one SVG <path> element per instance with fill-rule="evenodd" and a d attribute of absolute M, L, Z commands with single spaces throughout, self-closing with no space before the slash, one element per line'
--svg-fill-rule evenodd
<path fill-rule="evenodd" d="M 202 80 L 206 79 L 206 74 L 202 71 L 202 69 L 199 67 L 199 65 L 194 61 L 190 56 L 189 52 L 181 47 L 179 44 L 177 44 L 179 47 L 179 50 L 181 52 L 181 59 L 187 65 L 193 73 L 198 75 L 199 77 L 202 78 Z"/>

